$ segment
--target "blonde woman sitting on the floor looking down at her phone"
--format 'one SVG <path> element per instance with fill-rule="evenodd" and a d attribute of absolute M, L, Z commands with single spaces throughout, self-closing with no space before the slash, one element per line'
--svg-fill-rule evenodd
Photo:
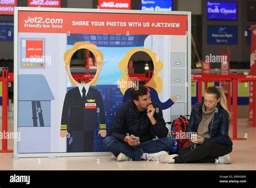
<path fill-rule="evenodd" d="M 194 105 L 187 132 L 197 133 L 191 137 L 190 147 L 181 148 L 178 155 L 163 155 L 162 163 L 216 163 L 230 164 L 232 141 L 228 136 L 231 113 L 221 87 L 206 89 L 204 102 Z M 197 138 L 196 138 L 197 137 Z"/>

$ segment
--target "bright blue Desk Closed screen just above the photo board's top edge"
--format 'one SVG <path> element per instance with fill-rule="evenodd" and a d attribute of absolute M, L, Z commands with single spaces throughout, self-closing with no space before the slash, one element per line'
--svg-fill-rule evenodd
<path fill-rule="evenodd" d="M 172 11 L 173 2 L 172 0 L 141 0 L 140 9 Z"/>

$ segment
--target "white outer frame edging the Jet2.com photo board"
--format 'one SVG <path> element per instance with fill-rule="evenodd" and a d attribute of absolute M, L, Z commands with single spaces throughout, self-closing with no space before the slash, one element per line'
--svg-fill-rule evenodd
<path fill-rule="evenodd" d="M 137 13 L 154 15 L 186 15 L 187 16 L 187 114 L 191 112 L 191 12 L 186 11 L 142 11 L 142 10 L 98 10 L 70 8 L 27 8 L 14 9 L 14 133 L 18 131 L 18 11 L 51 11 L 51 12 L 94 12 L 94 13 Z M 14 159 L 22 157 L 69 157 L 69 156 L 105 156 L 111 152 L 52 152 L 18 154 L 18 140 L 14 140 Z"/>

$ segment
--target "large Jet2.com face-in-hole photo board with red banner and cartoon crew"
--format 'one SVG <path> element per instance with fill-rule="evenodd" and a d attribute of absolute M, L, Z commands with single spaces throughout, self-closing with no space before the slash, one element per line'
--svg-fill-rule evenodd
<path fill-rule="evenodd" d="M 14 158 L 110 154 L 137 82 L 166 122 L 190 114 L 190 12 L 18 7 L 14 44 Z"/>

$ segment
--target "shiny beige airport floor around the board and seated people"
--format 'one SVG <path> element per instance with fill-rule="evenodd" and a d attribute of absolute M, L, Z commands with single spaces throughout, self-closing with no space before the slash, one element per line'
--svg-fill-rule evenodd
<path fill-rule="evenodd" d="M 247 128 L 246 122 L 247 119 L 238 120 L 238 137 L 244 137 L 247 134 L 247 140 L 233 141 L 232 164 L 116 162 L 112 156 L 59 157 L 56 159 L 19 158 L 14 160 L 11 153 L 0 153 L 0 170 L 256 170 L 256 128 Z M 13 121 L 9 120 L 9 131 L 12 131 L 12 123 Z M 230 137 L 232 137 L 232 124 Z M 9 141 L 10 149 L 12 149 L 11 144 L 12 141 Z"/>

